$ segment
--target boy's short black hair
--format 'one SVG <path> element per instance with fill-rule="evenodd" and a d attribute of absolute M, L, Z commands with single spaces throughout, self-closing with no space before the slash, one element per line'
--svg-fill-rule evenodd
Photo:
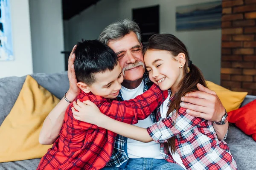
<path fill-rule="evenodd" d="M 116 53 L 98 40 L 81 40 L 77 43 L 74 67 L 78 82 L 91 85 L 95 82 L 95 73 L 112 71 L 118 63 Z"/>

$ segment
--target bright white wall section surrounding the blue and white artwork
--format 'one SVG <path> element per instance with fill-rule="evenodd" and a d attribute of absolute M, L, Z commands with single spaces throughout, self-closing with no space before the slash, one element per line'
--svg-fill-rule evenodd
<path fill-rule="evenodd" d="M 14 61 L 0 61 L 0 78 L 32 74 L 28 0 L 10 0 Z"/>

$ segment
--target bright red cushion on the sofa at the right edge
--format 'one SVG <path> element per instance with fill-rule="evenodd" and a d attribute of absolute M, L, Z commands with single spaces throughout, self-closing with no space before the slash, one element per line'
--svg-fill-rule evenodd
<path fill-rule="evenodd" d="M 245 134 L 252 135 L 253 140 L 256 141 L 256 100 L 239 109 L 230 111 L 228 121 L 235 123 Z"/>

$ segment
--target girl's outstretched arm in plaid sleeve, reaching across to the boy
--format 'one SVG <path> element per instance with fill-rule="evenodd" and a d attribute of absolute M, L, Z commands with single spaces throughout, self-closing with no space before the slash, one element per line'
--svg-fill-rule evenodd
<path fill-rule="evenodd" d="M 97 108 L 97 106 L 90 101 L 86 101 L 85 103 L 90 106 L 89 108 Z M 73 108 L 73 115 L 76 115 L 76 113 L 79 112 L 75 111 Z M 97 119 L 95 119 L 96 117 Z M 130 139 L 140 142 L 151 142 L 153 139 L 158 143 L 166 142 L 166 140 L 172 136 L 183 133 L 205 121 L 204 119 L 190 116 L 186 113 L 186 109 L 184 108 L 180 108 L 177 116 L 176 113 L 173 113 L 165 119 L 160 119 L 160 121 L 154 123 L 147 129 L 118 122 L 102 114 L 99 110 L 94 110 L 93 114 L 87 115 L 86 118 L 86 122 L 88 123 L 111 130 Z M 175 121 L 173 121 L 174 119 Z"/>

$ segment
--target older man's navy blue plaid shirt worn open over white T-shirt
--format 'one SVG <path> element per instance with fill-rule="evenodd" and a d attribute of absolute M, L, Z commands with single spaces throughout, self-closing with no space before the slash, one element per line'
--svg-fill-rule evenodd
<path fill-rule="evenodd" d="M 144 91 L 143 92 L 145 92 L 154 83 L 150 81 L 147 73 L 145 73 L 143 75 L 143 79 L 144 79 Z M 121 93 L 119 93 L 119 95 L 117 96 L 117 100 L 118 101 L 123 101 Z M 157 121 L 156 113 L 157 113 L 157 109 L 155 109 L 152 112 L 152 114 L 150 115 L 151 119 L 153 120 L 153 122 Z M 121 135 L 117 135 L 116 136 L 116 141 L 115 141 L 115 146 L 114 146 L 113 154 L 111 156 L 110 161 L 108 162 L 108 164 L 106 166 L 120 167 L 123 163 L 128 161 L 128 155 L 125 153 L 125 142 L 127 142 L 127 138 L 125 138 L 125 137 L 123 137 Z"/>

